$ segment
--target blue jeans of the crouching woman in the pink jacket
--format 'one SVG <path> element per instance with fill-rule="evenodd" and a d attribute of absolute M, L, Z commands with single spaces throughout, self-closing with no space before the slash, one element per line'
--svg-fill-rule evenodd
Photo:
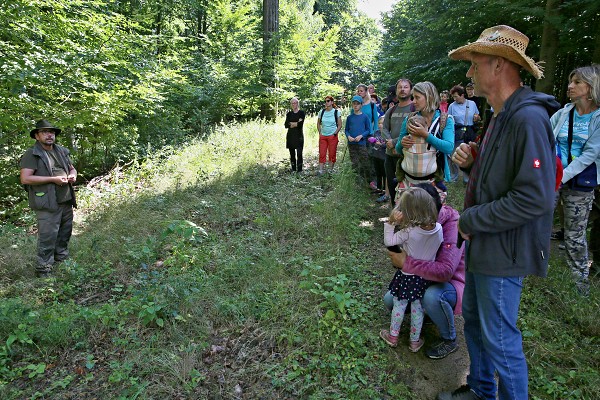
<path fill-rule="evenodd" d="M 388 291 L 383 297 L 385 306 L 391 310 L 394 296 Z M 440 331 L 442 339 L 456 339 L 454 328 L 454 307 L 456 306 L 456 289 L 449 282 L 434 283 L 427 288 L 421 300 L 425 313 Z"/>

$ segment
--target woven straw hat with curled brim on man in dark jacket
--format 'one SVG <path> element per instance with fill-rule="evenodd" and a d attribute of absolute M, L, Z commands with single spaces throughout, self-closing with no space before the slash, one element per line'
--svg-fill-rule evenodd
<path fill-rule="evenodd" d="M 525 68 L 536 79 L 544 76 L 543 68 L 533 59 L 525 55 L 529 38 L 515 28 L 497 25 L 487 28 L 479 39 L 448 53 L 453 60 L 468 60 L 469 53 L 481 53 L 500 56 Z"/>

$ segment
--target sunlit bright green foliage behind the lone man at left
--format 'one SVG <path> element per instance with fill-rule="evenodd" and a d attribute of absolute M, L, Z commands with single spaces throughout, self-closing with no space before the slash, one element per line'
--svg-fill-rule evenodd
<path fill-rule="evenodd" d="M 63 129 L 58 142 L 89 181 L 206 135 L 220 121 L 254 118 L 263 104 L 340 93 L 331 86 L 340 24 L 324 26 L 310 2 L 281 2 L 280 13 L 276 85 L 265 87 L 256 0 L 17 0 L 1 7 L 0 219 L 23 214 L 18 160 L 40 118 Z"/>

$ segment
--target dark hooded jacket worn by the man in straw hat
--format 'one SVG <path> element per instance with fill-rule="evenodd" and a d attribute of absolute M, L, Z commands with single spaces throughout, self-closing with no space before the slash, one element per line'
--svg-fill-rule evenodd
<path fill-rule="evenodd" d="M 471 234 L 469 272 L 546 276 L 554 209 L 554 97 L 519 88 L 496 117 L 459 226 Z M 488 133 L 490 134 L 490 133 Z"/>

